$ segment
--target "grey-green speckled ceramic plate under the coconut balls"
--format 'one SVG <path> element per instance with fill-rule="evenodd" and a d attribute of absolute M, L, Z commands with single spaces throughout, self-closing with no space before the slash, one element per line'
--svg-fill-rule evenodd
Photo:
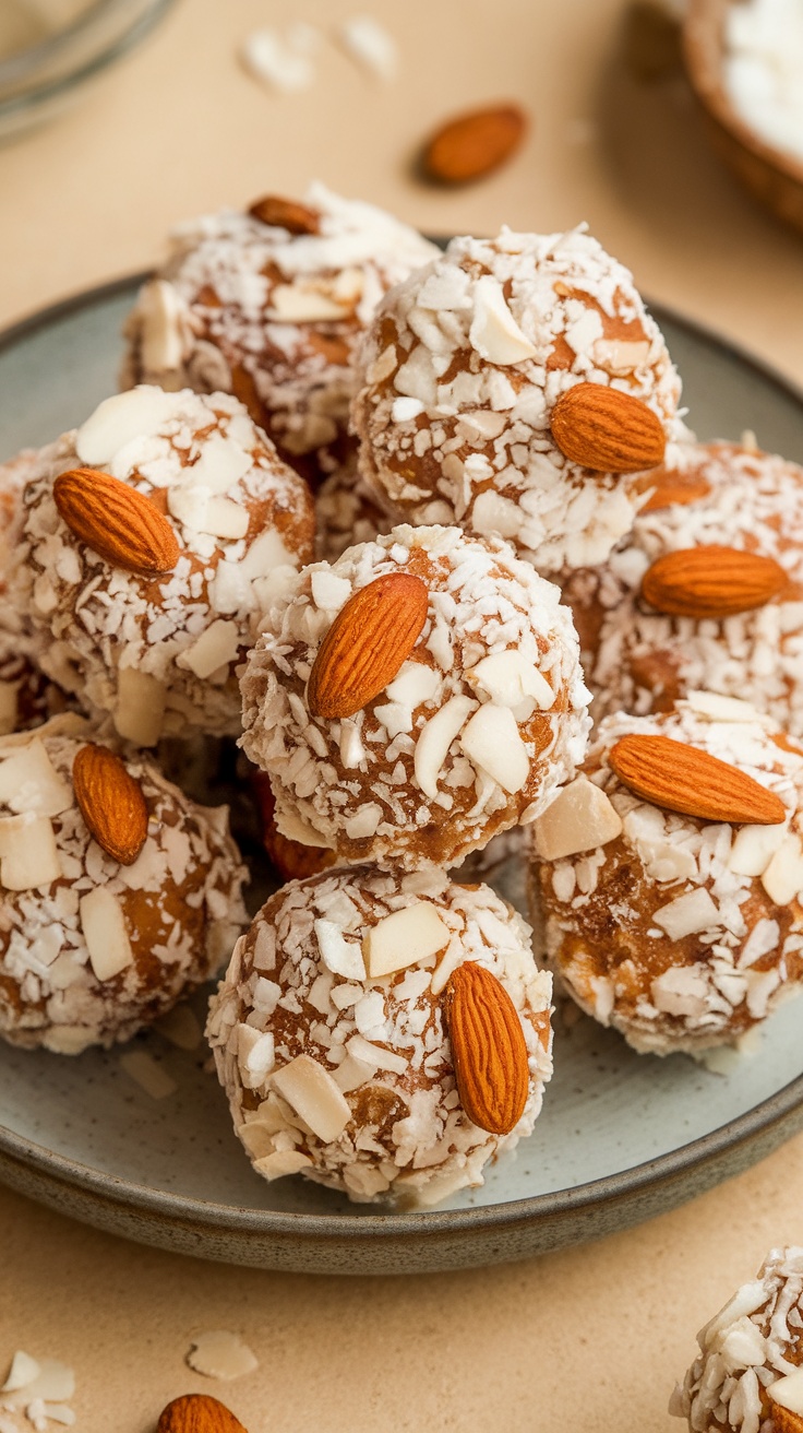
<path fill-rule="evenodd" d="M 0 456 L 56 437 L 115 390 L 135 287 L 97 289 L 0 338 Z M 799 394 L 699 328 L 657 317 L 701 437 L 750 427 L 803 461 Z M 515 877 L 504 877 L 512 897 Z M 684 1056 L 640 1058 L 584 1017 L 568 1027 L 558 1017 L 557 1073 L 532 1136 L 482 1189 L 419 1214 L 253 1175 L 203 1049 L 155 1032 L 133 1043 L 175 1085 L 155 1099 L 122 1052 L 4 1048 L 0 1178 L 146 1244 L 263 1268 L 389 1274 L 512 1260 L 671 1208 L 803 1129 L 802 1020 L 800 1002 L 779 1010 L 757 1052 L 723 1076 Z"/>

